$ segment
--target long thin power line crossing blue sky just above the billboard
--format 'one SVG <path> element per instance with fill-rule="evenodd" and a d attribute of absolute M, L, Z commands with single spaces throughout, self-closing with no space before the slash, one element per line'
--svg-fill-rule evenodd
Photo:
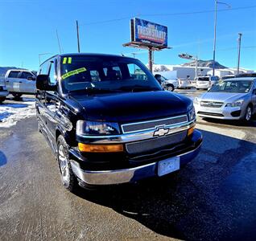
<path fill-rule="evenodd" d="M 253 8 L 256 8 L 256 5 L 254 5 L 254 6 L 237 6 L 237 7 L 228 8 L 228 9 L 220 9 L 220 10 L 218 10 L 218 12 L 233 11 L 233 10 L 246 10 L 246 9 L 253 9 Z M 189 15 L 189 14 L 207 14 L 207 13 L 213 13 L 213 12 L 214 12 L 214 10 L 200 10 L 200 11 L 193 11 L 193 12 L 169 13 L 169 14 L 138 14 L 138 15 L 130 16 L 130 17 L 113 18 L 113 19 L 102 20 L 102 21 L 97 21 L 97 22 L 86 22 L 86 23 L 81 24 L 81 26 L 100 24 L 100 23 L 108 23 L 108 22 L 118 22 L 118 21 L 130 19 L 130 18 L 135 18 L 135 17 L 178 16 L 178 15 Z"/>

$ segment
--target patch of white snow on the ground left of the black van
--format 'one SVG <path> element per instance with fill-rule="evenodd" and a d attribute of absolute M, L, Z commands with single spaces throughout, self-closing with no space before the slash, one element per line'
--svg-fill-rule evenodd
<path fill-rule="evenodd" d="M 9 102 L 9 101 L 8 101 Z M 35 99 L 23 98 L 23 101 L 11 101 L 0 104 L 0 128 L 9 128 L 17 121 L 35 116 Z"/>

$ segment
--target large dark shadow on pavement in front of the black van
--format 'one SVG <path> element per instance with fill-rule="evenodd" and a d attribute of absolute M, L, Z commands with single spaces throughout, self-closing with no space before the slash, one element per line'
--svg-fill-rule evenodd
<path fill-rule="evenodd" d="M 167 237 L 255 240 L 256 145 L 202 133 L 199 156 L 180 172 L 76 195 Z"/>

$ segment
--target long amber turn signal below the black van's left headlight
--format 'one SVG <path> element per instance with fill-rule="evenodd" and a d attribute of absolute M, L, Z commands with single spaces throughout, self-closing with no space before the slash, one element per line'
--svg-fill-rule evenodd
<path fill-rule="evenodd" d="M 123 151 L 122 144 L 96 145 L 78 143 L 78 149 L 85 153 L 118 153 Z"/>

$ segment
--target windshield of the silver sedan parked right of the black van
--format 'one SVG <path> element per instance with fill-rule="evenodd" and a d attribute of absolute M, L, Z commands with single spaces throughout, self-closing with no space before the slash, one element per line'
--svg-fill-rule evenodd
<path fill-rule="evenodd" d="M 250 92 L 252 84 L 251 80 L 225 80 L 213 85 L 209 92 L 246 93 Z"/>

